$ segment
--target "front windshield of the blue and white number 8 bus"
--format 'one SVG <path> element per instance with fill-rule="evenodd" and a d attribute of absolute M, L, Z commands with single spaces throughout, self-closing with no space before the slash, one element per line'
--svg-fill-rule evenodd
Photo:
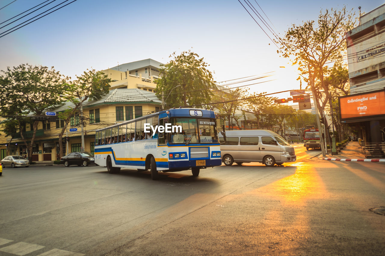
<path fill-rule="evenodd" d="M 182 126 L 182 131 L 173 132 L 170 143 L 218 143 L 215 119 L 172 118 L 171 125 Z"/>

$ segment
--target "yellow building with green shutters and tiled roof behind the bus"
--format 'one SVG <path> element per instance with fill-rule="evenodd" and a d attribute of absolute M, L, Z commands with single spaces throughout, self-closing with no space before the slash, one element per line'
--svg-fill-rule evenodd
<path fill-rule="evenodd" d="M 85 101 L 83 103 L 84 151 L 94 153 L 96 129 L 160 110 L 161 100 L 154 93 L 156 88 L 154 79 L 159 77 L 160 64 L 160 62 L 147 59 L 103 70 L 112 80 L 109 93 L 100 100 Z M 125 71 L 121 71 L 122 68 Z M 50 111 L 59 113 L 71 108 L 71 105 L 71 103 L 67 103 Z M 57 117 L 53 116 L 41 116 L 39 118 L 42 121 L 39 122 L 36 133 L 32 161 L 57 160 L 59 157 L 58 139 L 64 127 L 64 121 L 57 120 Z M 32 138 L 33 131 L 31 131 L 31 128 L 32 125 L 26 125 L 23 128 L 25 130 L 23 135 L 27 138 L 28 143 Z M 7 156 L 7 146 L 9 146 L 8 155 L 27 156 L 26 146 L 21 139 L 20 133 L 15 131 L 12 141 L 10 137 L 5 137 L 4 133 L 0 132 L 1 159 Z M 79 114 L 71 118 L 64 132 L 62 142 L 63 155 L 82 150 Z"/>

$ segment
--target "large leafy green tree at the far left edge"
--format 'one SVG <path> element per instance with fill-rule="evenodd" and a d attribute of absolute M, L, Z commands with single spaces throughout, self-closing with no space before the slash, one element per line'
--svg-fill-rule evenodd
<path fill-rule="evenodd" d="M 32 66 L 28 63 L 12 69 L 7 67 L 2 72 L 4 76 L 0 77 L 0 111 L 2 115 L 19 122 L 20 135 L 27 146 L 28 159 L 31 160 L 33 142 L 41 120 L 38 116 L 47 108 L 63 102 L 60 95 L 69 89 L 69 78 L 60 75 L 54 67 L 49 70 L 46 66 Z M 32 118 L 33 130 L 29 145 L 22 131 L 22 120 L 27 117 Z"/>

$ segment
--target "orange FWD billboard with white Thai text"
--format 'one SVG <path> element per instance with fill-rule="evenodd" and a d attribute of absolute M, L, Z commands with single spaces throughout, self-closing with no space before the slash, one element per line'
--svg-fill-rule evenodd
<path fill-rule="evenodd" d="M 385 90 L 338 97 L 341 120 L 385 115 Z"/>

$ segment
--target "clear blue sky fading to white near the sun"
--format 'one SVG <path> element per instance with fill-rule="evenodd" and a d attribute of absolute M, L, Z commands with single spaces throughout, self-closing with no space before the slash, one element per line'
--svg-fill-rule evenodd
<path fill-rule="evenodd" d="M 12 1 L 0 0 L 0 8 Z M 249 1 L 263 15 L 256 2 Z M 42 2 L 17 0 L 0 10 L 0 22 Z M 346 5 L 356 13 L 358 6 L 361 12 L 370 12 L 383 1 L 271 0 L 258 4 L 272 22 L 270 26 L 283 35 L 293 23 L 316 20 L 321 9 Z M 0 33 L 10 27 L 0 29 Z M 29 63 L 54 66 L 74 78 L 87 68 L 103 70 L 118 62 L 152 58 L 167 63 L 171 53 L 189 49 L 210 64 L 216 81 L 275 71 L 274 82 L 250 86 L 250 90 L 273 93 L 299 88 L 295 68 L 288 59 L 279 57 L 276 46 L 238 0 L 77 0 L 0 38 L 0 70 Z"/>

